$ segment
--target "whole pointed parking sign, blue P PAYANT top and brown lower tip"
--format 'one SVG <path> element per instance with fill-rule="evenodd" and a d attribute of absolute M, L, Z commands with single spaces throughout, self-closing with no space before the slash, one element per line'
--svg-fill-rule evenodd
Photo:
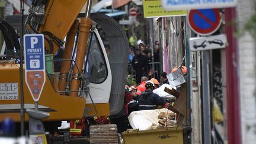
<path fill-rule="evenodd" d="M 44 36 L 24 35 L 25 82 L 34 101 L 39 101 L 45 83 Z"/>

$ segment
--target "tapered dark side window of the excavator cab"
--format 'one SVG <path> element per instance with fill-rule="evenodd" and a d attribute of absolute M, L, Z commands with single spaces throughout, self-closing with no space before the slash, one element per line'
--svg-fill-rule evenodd
<path fill-rule="evenodd" d="M 86 56 L 85 78 L 92 83 L 100 84 L 107 78 L 107 65 L 95 34 L 92 34 L 90 45 Z"/>

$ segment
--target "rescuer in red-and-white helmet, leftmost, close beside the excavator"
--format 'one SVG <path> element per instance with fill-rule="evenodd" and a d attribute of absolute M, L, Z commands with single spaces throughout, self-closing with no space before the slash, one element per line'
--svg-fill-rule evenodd
<path fill-rule="evenodd" d="M 139 107 L 137 103 L 137 87 L 136 85 L 133 85 L 130 87 L 129 91 L 132 93 L 133 98 L 132 100 L 128 103 L 128 115 L 132 113 L 133 111 L 137 111 L 137 108 Z"/>

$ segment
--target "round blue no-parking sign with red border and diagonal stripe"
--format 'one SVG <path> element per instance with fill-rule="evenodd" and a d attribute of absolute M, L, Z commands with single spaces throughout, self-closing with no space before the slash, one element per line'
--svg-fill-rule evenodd
<path fill-rule="evenodd" d="M 194 9 L 188 12 L 190 28 L 201 35 L 214 33 L 219 28 L 220 22 L 218 9 Z"/>

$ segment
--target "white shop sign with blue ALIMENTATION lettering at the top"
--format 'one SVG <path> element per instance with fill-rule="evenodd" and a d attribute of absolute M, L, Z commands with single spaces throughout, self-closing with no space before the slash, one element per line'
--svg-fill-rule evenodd
<path fill-rule="evenodd" d="M 162 0 L 162 7 L 167 10 L 228 8 L 235 7 L 237 0 Z"/>

